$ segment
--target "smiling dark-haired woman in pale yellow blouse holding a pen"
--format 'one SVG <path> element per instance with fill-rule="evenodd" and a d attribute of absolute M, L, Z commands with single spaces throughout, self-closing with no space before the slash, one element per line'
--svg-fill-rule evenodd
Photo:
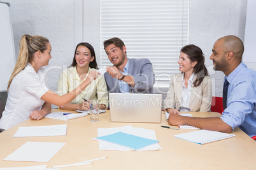
<path fill-rule="evenodd" d="M 65 95 L 76 86 L 82 84 L 87 79 L 90 71 L 97 69 L 96 55 L 94 48 L 87 42 L 81 42 L 76 46 L 73 63 L 68 69 L 62 71 L 57 85 L 58 95 Z M 87 88 L 85 88 L 80 95 L 74 100 L 60 107 L 66 110 L 84 110 L 89 109 L 89 102 L 84 101 L 97 99 L 99 100 L 99 108 L 108 108 L 108 91 L 104 75 L 99 75 L 97 79 L 92 81 Z"/>

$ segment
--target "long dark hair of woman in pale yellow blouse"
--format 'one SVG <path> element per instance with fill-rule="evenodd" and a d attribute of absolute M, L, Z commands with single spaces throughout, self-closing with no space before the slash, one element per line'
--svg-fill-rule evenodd
<path fill-rule="evenodd" d="M 92 47 L 92 45 L 89 44 L 88 42 L 80 42 L 79 44 L 77 44 L 76 50 L 79 46 L 85 46 L 86 48 L 88 48 L 90 50 L 90 55 L 94 56 L 94 60 L 92 60 L 92 62 L 89 63 L 89 67 L 98 69 L 97 62 L 96 62 L 96 55 L 95 55 L 95 51 L 94 51 L 94 48 Z M 69 67 L 76 67 L 76 64 L 77 64 L 76 63 L 76 50 L 75 50 L 75 55 L 73 58 L 73 63 L 71 63 L 71 65 Z"/>

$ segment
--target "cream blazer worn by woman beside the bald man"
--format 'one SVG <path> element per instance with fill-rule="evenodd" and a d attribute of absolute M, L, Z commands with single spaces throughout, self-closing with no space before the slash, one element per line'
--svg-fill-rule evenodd
<path fill-rule="evenodd" d="M 182 90 L 181 84 L 182 73 L 171 75 L 171 84 L 169 86 L 166 99 L 164 100 L 164 110 L 167 108 L 176 108 L 180 110 Z M 197 79 L 194 75 L 193 82 Z M 204 77 L 201 84 L 192 87 L 189 108 L 191 112 L 210 112 L 211 108 L 211 78 Z"/>

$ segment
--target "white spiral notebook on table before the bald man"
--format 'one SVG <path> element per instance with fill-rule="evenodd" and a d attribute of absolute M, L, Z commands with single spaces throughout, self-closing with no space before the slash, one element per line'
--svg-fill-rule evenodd
<path fill-rule="evenodd" d="M 176 138 L 192 141 L 194 143 L 205 144 L 213 141 L 225 140 L 236 136 L 235 134 L 222 133 L 217 131 L 199 130 L 188 133 L 175 134 Z"/>

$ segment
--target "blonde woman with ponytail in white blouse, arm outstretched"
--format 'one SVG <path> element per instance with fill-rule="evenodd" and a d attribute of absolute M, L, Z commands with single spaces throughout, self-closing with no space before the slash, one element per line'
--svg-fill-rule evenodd
<path fill-rule="evenodd" d="M 8 98 L 0 119 L 0 128 L 9 129 L 31 119 L 38 121 L 51 111 L 51 103 L 64 107 L 85 89 L 99 72 L 89 72 L 80 86 L 59 96 L 45 84 L 41 67 L 48 65 L 52 46 L 46 37 L 24 35 L 20 39 L 18 60 L 8 82 Z"/>

